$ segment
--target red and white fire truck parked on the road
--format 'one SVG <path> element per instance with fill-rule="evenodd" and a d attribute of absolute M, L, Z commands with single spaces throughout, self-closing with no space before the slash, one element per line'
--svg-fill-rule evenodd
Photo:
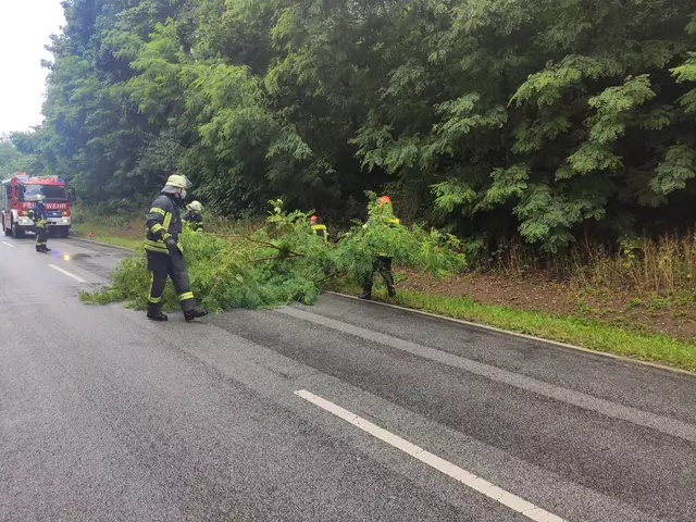
<path fill-rule="evenodd" d="M 58 176 L 35 177 L 22 172 L 0 185 L 0 211 L 5 236 L 21 238 L 33 229 L 34 222 L 27 216 L 27 211 L 34 208 L 41 195 L 48 213 L 49 233 L 67 237 L 70 202 L 75 199 L 74 190 L 66 188 L 65 181 Z"/>

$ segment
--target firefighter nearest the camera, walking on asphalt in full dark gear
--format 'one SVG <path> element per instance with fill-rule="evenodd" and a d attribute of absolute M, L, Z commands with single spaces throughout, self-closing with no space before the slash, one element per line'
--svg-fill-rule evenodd
<path fill-rule="evenodd" d="M 190 183 L 186 176 L 172 175 L 166 181 L 162 194 L 152 202 L 147 216 L 145 249 L 148 270 L 151 272 L 150 295 L 148 296 L 148 319 L 166 321 L 162 313 L 162 293 L 166 277 L 171 277 L 178 296 L 184 319 L 192 321 L 208 315 L 207 310 L 196 308 L 196 298 L 189 288 L 186 262 L 178 243 L 182 233 L 179 207 L 186 197 Z"/>

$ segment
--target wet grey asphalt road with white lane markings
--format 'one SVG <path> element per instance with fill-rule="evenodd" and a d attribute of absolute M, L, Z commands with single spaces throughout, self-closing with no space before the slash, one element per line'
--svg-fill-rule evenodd
<path fill-rule="evenodd" d="M 2 521 L 696 520 L 696 377 L 376 303 L 88 307 L 0 243 Z"/>

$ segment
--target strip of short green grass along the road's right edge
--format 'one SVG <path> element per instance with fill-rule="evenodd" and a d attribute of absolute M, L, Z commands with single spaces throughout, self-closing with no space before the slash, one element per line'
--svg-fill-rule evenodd
<path fill-rule="evenodd" d="M 132 249 L 141 248 L 142 239 L 133 231 L 91 223 L 82 223 L 75 228 L 79 237 L 86 237 L 87 233 L 91 232 L 97 241 Z M 346 294 L 358 294 L 357 288 L 339 285 L 336 289 Z M 593 319 L 485 304 L 469 297 L 443 296 L 426 291 L 400 290 L 396 299 L 387 299 L 381 293 L 375 293 L 375 298 L 406 308 L 568 343 L 595 351 L 696 371 L 696 345 L 663 334 L 632 332 Z"/>

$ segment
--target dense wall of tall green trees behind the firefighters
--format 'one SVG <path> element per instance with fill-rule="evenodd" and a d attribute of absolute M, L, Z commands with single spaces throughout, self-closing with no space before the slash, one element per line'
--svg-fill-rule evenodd
<path fill-rule="evenodd" d="M 555 252 L 696 220 L 692 0 L 67 0 L 23 152 L 89 203 L 179 171 L 220 213 L 283 197 Z M 117 204 L 114 204 L 117 203 Z"/>

